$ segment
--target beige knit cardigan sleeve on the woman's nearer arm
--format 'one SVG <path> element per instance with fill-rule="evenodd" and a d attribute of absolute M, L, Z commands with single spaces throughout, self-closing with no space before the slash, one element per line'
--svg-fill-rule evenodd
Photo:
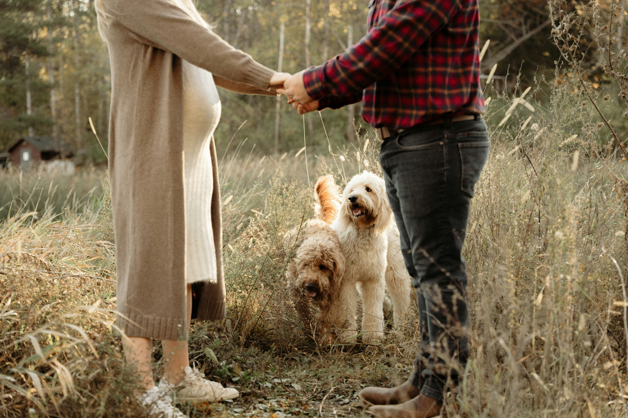
<path fill-rule="evenodd" d="M 168 0 L 106 0 L 104 9 L 149 45 L 232 82 L 269 88 L 273 70 L 229 45 Z"/>

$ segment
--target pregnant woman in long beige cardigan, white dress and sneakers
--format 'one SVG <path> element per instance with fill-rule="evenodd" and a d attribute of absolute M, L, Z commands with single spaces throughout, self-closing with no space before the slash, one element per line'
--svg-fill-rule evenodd
<path fill-rule="evenodd" d="M 116 235 L 117 323 L 127 362 L 157 416 L 171 403 L 237 397 L 189 367 L 190 318 L 225 317 L 222 230 L 213 131 L 215 85 L 276 95 L 289 75 L 215 35 L 190 0 L 97 0 L 112 91 L 109 178 Z M 154 385 L 152 339 L 164 379 Z"/>

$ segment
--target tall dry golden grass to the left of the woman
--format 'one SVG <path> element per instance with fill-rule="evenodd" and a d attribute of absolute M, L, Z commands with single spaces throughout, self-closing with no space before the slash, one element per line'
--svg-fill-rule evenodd
<path fill-rule="evenodd" d="M 0 224 L 0 416 L 142 416 L 112 323 L 113 245 L 47 213 Z"/>

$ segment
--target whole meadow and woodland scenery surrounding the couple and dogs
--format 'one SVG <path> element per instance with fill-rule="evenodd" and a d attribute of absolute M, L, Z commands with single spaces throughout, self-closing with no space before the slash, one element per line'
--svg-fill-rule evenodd
<path fill-rule="evenodd" d="M 479 1 L 492 145 L 463 247 L 472 350 L 447 416 L 627 417 L 626 0 Z M 286 72 L 359 40 L 367 3 L 197 1 L 229 43 Z M 106 155 L 89 122 L 106 149 L 110 83 L 93 3 L 0 0 L 0 153 L 53 135 L 79 165 L 0 169 L 0 417 L 145 416 L 114 326 Z M 357 393 L 404 381 L 416 328 L 323 345 L 286 297 L 278 243 L 313 217 L 318 175 L 378 171 L 379 141 L 359 105 L 304 118 L 284 98 L 220 96 L 227 319 L 193 324 L 190 355 L 242 395 L 182 408 L 365 417 Z"/>

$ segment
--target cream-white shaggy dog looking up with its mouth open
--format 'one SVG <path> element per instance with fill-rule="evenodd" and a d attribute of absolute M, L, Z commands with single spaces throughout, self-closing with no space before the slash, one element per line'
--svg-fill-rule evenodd
<path fill-rule="evenodd" d="M 342 340 L 357 331 L 357 294 L 362 294 L 362 340 L 376 342 L 384 336 L 384 296 L 388 288 L 393 303 L 393 321 L 399 329 L 407 320 L 411 303 L 411 277 L 399 245 L 384 180 L 374 173 L 356 174 L 345 186 L 340 212 L 332 223 L 345 254 L 345 272 L 337 306 L 347 330 Z"/>

